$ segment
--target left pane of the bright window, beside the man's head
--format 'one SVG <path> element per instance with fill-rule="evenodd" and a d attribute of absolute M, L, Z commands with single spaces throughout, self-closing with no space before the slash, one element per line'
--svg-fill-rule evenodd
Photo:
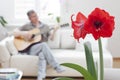
<path fill-rule="evenodd" d="M 15 0 L 15 18 L 26 18 L 26 12 L 30 9 L 35 10 L 35 0 Z"/>

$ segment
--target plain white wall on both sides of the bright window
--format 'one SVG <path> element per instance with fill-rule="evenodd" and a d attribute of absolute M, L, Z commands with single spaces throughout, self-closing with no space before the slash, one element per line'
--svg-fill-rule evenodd
<path fill-rule="evenodd" d="M 61 20 L 70 22 L 70 16 L 81 11 L 86 16 L 95 8 L 100 7 L 115 16 L 115 30 L 108 40 L 108 49 L 114 57 L 120 57 L 120 0 L 61 0 Z M 14 20 L 14 0 L 1 0 L 0 15 L 3 15 L 10 24 L 19 23 Z"/>

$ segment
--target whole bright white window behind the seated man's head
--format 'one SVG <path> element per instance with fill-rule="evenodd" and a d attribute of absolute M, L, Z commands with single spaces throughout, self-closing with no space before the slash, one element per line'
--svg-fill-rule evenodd
<path fill-rule="evenodd" d="M 59 0 L 15 0 L 15 18 L 25 19 L 28 10 L 35 10 L 40 18 L 47 18 L 49 13 L 60 16 Z"/>

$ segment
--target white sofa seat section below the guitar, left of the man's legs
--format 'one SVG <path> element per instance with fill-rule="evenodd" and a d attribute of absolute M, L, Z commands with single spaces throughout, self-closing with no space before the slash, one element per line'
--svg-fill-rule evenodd
<path fill-rule="evenodd" d="M 30 55 L 13 55 L 10 60 L 10 67 L 23 71 L 26 76 L 37 75 L 38 57 Z"/>

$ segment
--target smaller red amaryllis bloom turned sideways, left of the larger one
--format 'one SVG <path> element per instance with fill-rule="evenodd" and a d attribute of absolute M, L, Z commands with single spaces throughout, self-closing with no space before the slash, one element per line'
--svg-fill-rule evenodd
<path fill-rule="evenodd" d="M 83 38 L 86 36 L 86 31 L 84 30 L 84 23 L 87 20 L 87 18 L 82 14 L 78 13 L 76 16 L 76 21 L 73 21 L 72 19 L 73 15 L 71 16 L 72 21 L 72 28 L 74 29 L 74 38 L 79 40 L 79 38 Z"/>

